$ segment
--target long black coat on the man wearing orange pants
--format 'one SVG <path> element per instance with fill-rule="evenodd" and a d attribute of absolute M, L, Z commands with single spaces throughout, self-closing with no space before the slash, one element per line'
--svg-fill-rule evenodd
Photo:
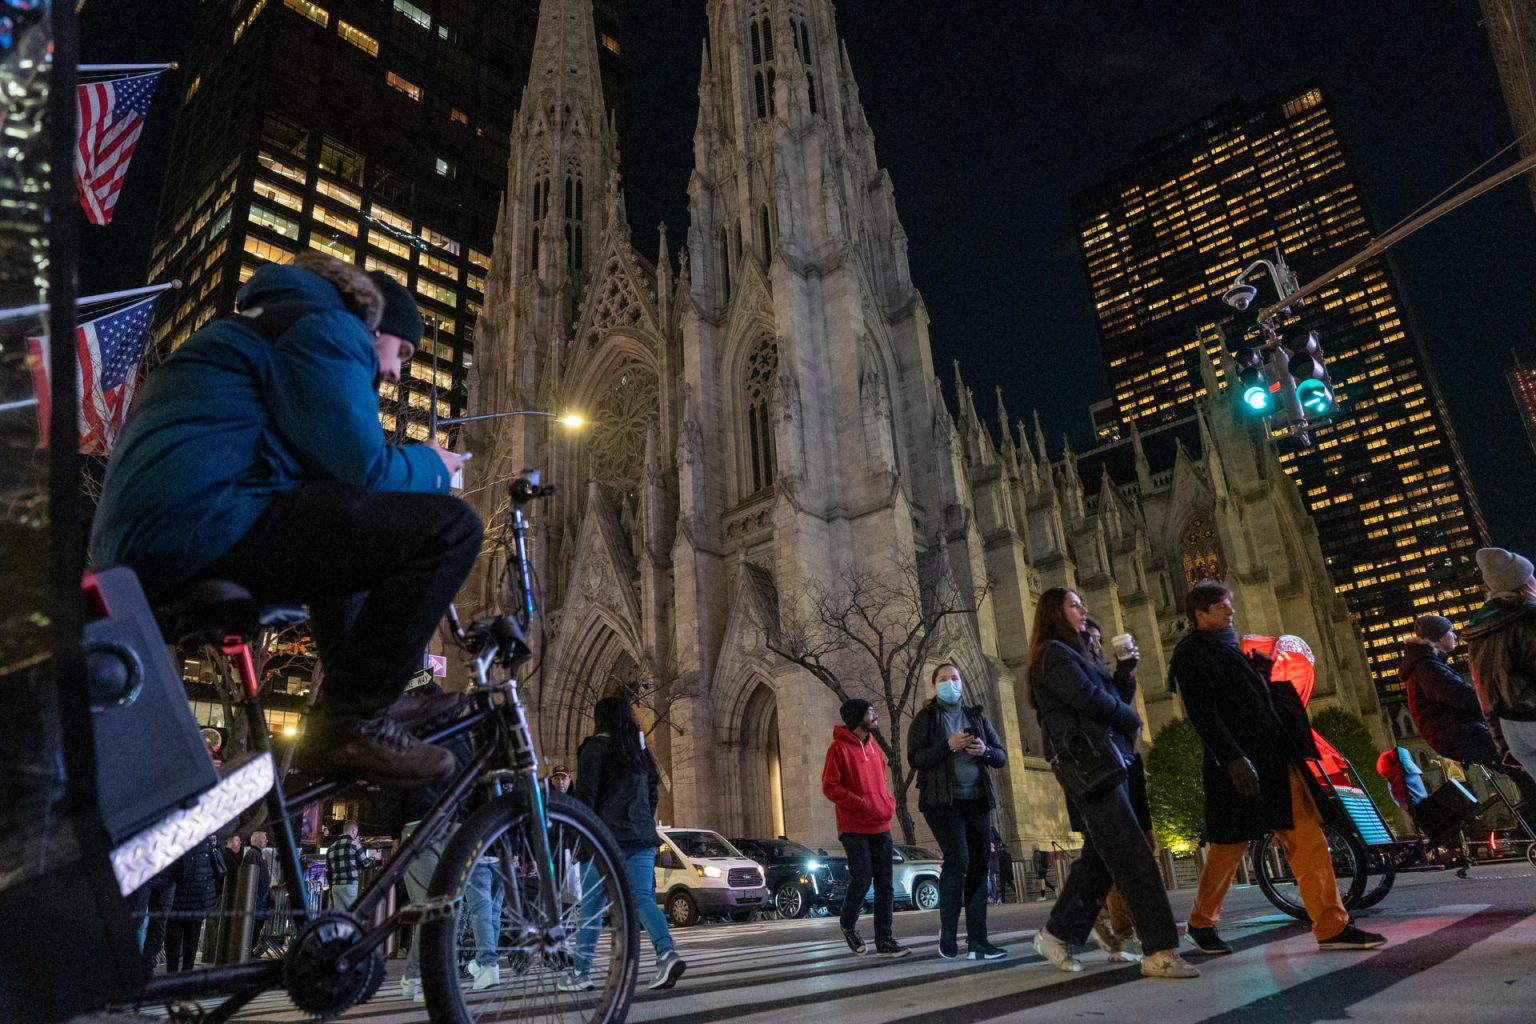
<path fill-rule="evenodd" d="M 1296 691 L 1272 685 L 1241 651 L 1198 631 L 1174 648 L 1169 676 L 1206 748 L 1206 838 L 1244 843 L 1292 827 L 1290 768 L 1318 757 Z M 1240 757 L 1258 772 L 1256 798 L 1240 794 L 1227 774 Z"/>

